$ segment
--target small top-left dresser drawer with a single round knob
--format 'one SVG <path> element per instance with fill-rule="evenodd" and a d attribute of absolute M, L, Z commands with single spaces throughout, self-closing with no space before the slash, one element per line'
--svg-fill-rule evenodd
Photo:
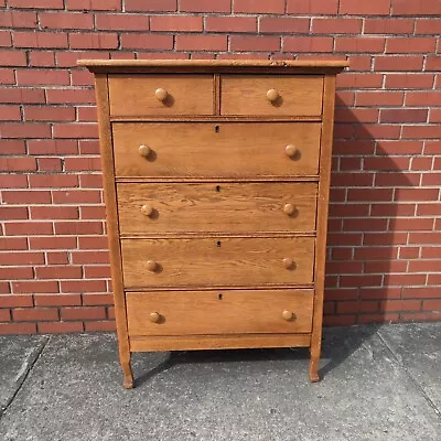
<path fill-rule="evenodd" d="M 110 115 L 213 115 L 212 75 L 111 75 Z"/>

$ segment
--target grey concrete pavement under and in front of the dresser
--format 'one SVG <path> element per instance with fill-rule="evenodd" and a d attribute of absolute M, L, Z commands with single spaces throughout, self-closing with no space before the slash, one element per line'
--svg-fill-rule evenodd
<path fill-rule="evenodd" d="M 327 329 L 304 349 L 133 355 L 112 334 L 0 337 L 0 440 L 441 440 L 441 323 Z"/>

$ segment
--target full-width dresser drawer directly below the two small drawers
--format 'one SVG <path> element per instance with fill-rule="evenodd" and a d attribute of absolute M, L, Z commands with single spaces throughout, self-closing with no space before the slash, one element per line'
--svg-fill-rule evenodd
<path fill-rule="evenodd" d="M 314 122 L 115 122 L 112 133 L 117 176 L 256 178 L 319 171 L 321 125 Z"/>

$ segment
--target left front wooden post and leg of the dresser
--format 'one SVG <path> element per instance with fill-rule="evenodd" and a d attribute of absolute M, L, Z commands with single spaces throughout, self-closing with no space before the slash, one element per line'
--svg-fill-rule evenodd
<path fill-rule="evenodd" d="M 123 386 L 133 387 L 130 367 L 129 337 L 127 332 L 126 301 L 121 271 L 121 250 L 119 244 L 118 208 L 115 187 L 114 159 L 111 153 L 111 130 L 109 121 L 109 99 L 107 76 L 95 76 L 97 96 L 99 146 L 101 152 L 103 185 L 106 202 L 107 236 L 109 241 L 110 270 L 115 301 L 115 319 L 118 333 L 119 359 L 123 373 Z"/>

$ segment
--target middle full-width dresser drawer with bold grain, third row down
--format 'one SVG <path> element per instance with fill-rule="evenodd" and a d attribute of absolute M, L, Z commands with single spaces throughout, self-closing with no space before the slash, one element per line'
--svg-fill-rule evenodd
<path fill-rule="evenodd" d="M 122 183 L 122 235 L 179 232 L 312 232 L 316 183 Z"/>

